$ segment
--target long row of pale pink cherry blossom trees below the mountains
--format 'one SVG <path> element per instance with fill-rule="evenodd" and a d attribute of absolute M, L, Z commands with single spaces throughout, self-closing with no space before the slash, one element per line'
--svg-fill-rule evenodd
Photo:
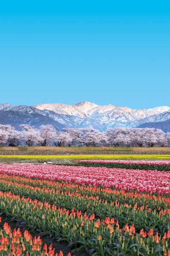
<path fill-rule="evenodd" d="M 92 128 L 64 128 L 58 131 L 53 125 L 41 125 L 36 129 L 21 124 L 21 130 L 0 124 L 0 146 L 170 146 L 170 132 L 155 128 L 110 128 L 99 132 Z"/>

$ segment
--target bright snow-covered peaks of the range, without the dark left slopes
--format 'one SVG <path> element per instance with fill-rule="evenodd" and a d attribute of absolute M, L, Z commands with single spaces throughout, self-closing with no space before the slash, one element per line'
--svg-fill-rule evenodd
<path fill-rule="evenodd" d="M 153 109 L 130 109 L 127 106 L 114 106 L 113 104 L 99 106 L 88 101 L 71 105 L 39 104 L 34 107 L 42 110 L 48 109 L 59 115 L 82 118 L 86 123 L 95 121 L 104 129 L 108 127 L 136 127 L 143 121 L 149 122 L 150 120 L 162 121 L 162 119 L 168 118 L 168 115 L 163 118 L 161 114 L 170 111 L 168 106 L 159 106 Z M 79 122 L 82 124 L 82 120 Z"/>

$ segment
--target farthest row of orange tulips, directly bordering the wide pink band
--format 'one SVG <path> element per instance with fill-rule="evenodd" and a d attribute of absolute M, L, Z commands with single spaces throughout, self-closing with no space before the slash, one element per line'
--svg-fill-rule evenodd
<path fill-rule="evenodd" d="M 116 201 L 121 202 L 121 204 L 128 203 L 131 205 L 135 205 L 137 203 L 140 207 L 143 205 L 147 207 L 147 204 L 149 204 L 152 210 L 162 210 L 165 207 L 169 208 L 170 204 L 170 198 L 168 195 L 156 196 L 155 194 L 150 195 L 148 193 L 137 193 L 136 191 L 133 192 L 111 188 L 91 187 L 65 182 L 59 183 L 55 181 L 31 179 L 6 174 L 0 174 L 0 181 L 5 183 L 8 191 L 14 191 L 14 187 L 11 186 L 13 184 L 15 184 L 17 187 L 27 187 L 29 195 L 25 194 L 25 196 L 31 195 L 31 197 L 33 196 L 38 200 L 42 200 L 43 198 L 44 201 L 49 201 L 52 204 L 61 204 L 62 197 L 67 197 L 64 198 L 67 201 L 67 205 L 69 205 L 71 201 L 74 201 L 74 198 L 76 198 L 77 203 L 80 203 L 83 198 L 85 198 L 88 201 L 97 201 L 97 204 L 104 202 L 105 205 L 107 203 L 113 204 L 113 202 Z M 0 188 L 1 190 L 4 189 L 3 187 Z M 18 189 L 20 190 L 20 188 Z M 31 193 L 32 190 L 33 193 Z M 38 195 L 35 195 L 35 191 L 36 193 L 40 193 L 40 198 L 38 198 Z M 19 193 L 21 195 L 21 190 Z M 58 197 L 59 199 L 57 199 Z M 89 204 L 90 203 L 88 202 L 88 210 L 90 206 Z M 71 208 L 72 207 L 73 206 L 71 204 Z M 76 207 L 76 205 L 74 205 L 74 207 Z"/>

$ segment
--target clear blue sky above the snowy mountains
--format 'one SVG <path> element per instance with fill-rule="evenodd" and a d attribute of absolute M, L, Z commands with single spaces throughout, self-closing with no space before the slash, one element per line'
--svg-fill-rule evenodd
<path fill-rule="evenodd" d="M 170 106 L 170 1 L 0 1 L 0 103 Z"/>

